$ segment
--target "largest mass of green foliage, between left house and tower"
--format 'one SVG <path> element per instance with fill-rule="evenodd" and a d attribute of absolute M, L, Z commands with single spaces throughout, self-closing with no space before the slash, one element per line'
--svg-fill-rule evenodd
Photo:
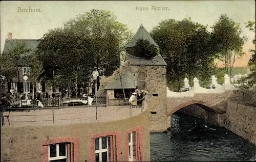
<path fill-rule="evenodd" d="M 120 65 L 120 52 L 130 41 L 131 31 L 118 22 L 109 11 L 92 10 L 78 15 L 64 24 L 63 28 L 50 30 L 40 39 L 38 53 L 44 62 L 52 83 L 63 87 L 74 87 L 89 82 L 93 68 L 105 69 L 111 75 Z"/>

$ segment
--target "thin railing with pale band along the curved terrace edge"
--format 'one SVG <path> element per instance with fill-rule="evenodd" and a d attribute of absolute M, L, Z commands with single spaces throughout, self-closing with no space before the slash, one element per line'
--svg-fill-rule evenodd
<path fill-rule="evenodd" d="M 129 118 L 139 115 L 144 110 L 144 98 L 140 105 L 133 107 L 131 105 L 107 105 L 107 107 L 83 107 L 72 106 L 66 109 L 57 109 L 57 107 L 27 107 L 27 108 L 4 108 L 1 107 L 2 126 L 5 122 L 9 125 L 34 125 L 34 124 L 69 124 L 86 123 L 94 121 L 110 121 Z M 123 102 L 124 103 L 124 102 Z M 125 102 L 132 103 L 132 102 Z M 137 109 L 136 109 L 137 108 Z M 140 108 L 140 109 L 138 109 Z M 16 112 L 17 110 L 34 110 L 30 112 Z M 14 112 L 11 112 L 14 111 Z M 10 113 L 11 112 L 11 113 Z M 65 122 L 64 122 L 65 121 Z M 12 124 L 10 124 L 12 123 Z"/>

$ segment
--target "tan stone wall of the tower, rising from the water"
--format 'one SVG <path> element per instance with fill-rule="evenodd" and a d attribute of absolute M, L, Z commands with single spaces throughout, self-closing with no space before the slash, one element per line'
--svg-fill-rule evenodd
<path fill-rule="evenodd" d="M 165 66 L 130 66 L 136 74 L 145 73 L 145 89 L 148 91 L 148 109 L 156 114 L 150 115 L 150 130 L 165 131 L 167 129 L 166 100 L 166 67 Z M 154 96 L 153 96 L 154 95 Z"/>

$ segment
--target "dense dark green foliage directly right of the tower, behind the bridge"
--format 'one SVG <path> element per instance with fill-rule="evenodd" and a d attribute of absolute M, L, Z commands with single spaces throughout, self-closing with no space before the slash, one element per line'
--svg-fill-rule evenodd
<path fill-rule="evenodd" d="M 209 79 L 215 73 L 214 51 L 207 26 L 183 19 L 161 21 L 152 33 L 160 46 L 160 54 L 167 63 L 167 79 L 182 83 L 184 77 L 191 82 L 194 77 Z"/>

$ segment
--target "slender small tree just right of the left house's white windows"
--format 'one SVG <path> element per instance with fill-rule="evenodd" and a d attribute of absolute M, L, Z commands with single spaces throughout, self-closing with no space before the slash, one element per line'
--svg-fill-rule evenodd
<path fill-rule="evenodd" d="M 27 65 L 30 67 L 30 75 L 29 79 L 32 83 L 33 91 L 32 91 L 32 99 L 34 99 L 34 88 L 37 82 L 39 81 L 39 76 L 44 72 L 42 69 L 42 62 L 38 60 L 36 53 L 33 51 L 31 55 L 26 57 Z"/>

